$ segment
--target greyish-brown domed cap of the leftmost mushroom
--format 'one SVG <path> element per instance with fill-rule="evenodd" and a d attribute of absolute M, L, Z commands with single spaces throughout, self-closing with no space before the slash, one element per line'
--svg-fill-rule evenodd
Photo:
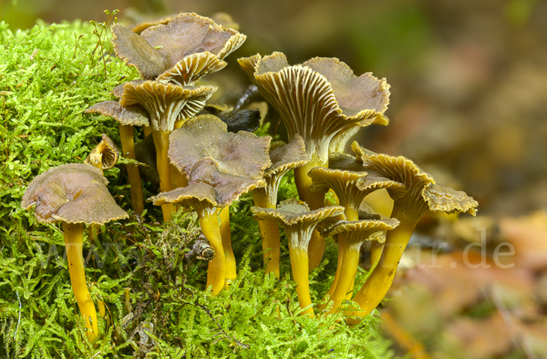
<path fill-rule="evenodd" d="M 62 165 L 37 176 L 26 189 L 21 207 L 36 204 L 36 219 L 55 223 L 105 224 L 128 218 L 119 208 L 100 169 L 83 163 Z"/>

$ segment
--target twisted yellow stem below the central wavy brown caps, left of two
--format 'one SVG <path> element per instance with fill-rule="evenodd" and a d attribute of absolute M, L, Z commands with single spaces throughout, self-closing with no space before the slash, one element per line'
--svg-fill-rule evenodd
<path fill-rule="evenodd" d="M 221 228 L 219 226 L 217 210 L 206 208 L 198 210 L 201 231 L 214 249 L 215 256 L 209 262 L 207 270 L 207 287 L 212 286 L 212 295 L 216 295 L 224 288 L 226 281 L 226 257 L 222 247 Z"/>

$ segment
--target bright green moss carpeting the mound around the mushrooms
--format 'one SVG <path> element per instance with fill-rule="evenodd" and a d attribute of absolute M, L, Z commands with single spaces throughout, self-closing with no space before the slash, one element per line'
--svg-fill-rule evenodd
<path fill-rule="evenodd" d="M 107 32 L 93 35 L 95 29 L 75 22 L 11 32 L 0 24 L 0 357 L 391 357 L 372 316 L 350 328 L 333 317 L 298 315 L 286 248 L 282 280 L 263 273 L 251 195 L 232 207 L 238 280 L 216 297 L 203 292 L 205 263 L 182 262 L 198 234 L 195 214 L 159 225 L 160 211 L 148 203 L 142 218 L 88 228 L 90 292 L 107 308 L 101 339 L 95 347 L 88 343 L 63 235 L 55 225 L 36 223 L 20 201 L 36 175 L 81 162 L 101 133 L 119 142 L 112 119 L 82 113 L 138 75 L 101 55 Z M 123 171 L 105 175 L 119 205 L 130 209 Z M 295 195 L 288 176 L 280 198 Z M 312 275 L 315 303 L 334 276 L 335 253 L 330 243 L 327 261 Z"/>

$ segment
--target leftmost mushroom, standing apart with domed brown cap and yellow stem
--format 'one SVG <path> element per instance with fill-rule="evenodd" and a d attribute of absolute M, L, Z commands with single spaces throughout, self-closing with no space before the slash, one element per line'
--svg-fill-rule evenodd
<path fill-rule="evenodd" d="M 98 335 L 98 323 L 86 284 L 82 256 L 84 225 L 103 225 L 129 217 L 110 196 L 107 184 L 100 169 L 83 163 L 62 165 L 37 176 L 21 201 L 21 207 L 26 210 L 36 205 L 37 221 L 61 222 L 70 282 L 90 341 Z"/>

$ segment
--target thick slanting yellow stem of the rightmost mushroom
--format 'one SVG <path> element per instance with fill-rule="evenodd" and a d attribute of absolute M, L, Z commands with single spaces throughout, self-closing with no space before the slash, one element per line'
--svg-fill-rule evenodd
<path fill-rule="evenodd" d="M 407 248 L 408 240 L 410 240 L 421 216 L 418 217 L 418 220 L 409 219 L 396 207 L 391 213 L 391 217 L 397 218 L 400 223 L 395 230 L 387 231 L 386 244 L 380 260 L 361 290 L 356 293 L 354 302 L 359 304 L 361 310 L 348 311 L 346 315 L 364 317 L 374 311 L 377 305 L 382 302 L 393 283 L 398 262 Z M 356 324 L 360 322 L 360 319 L 347 319 L 346 322 Z"/>

